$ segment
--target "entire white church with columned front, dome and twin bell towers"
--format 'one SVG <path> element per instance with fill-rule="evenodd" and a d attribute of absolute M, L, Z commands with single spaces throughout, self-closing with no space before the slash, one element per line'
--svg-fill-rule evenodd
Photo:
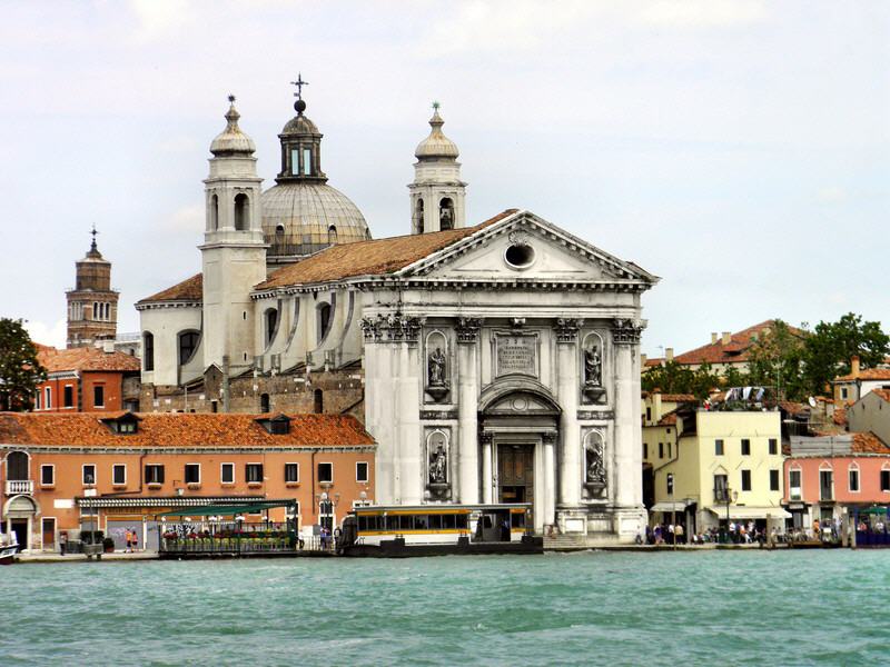
<path fill-rule="evenodd" d="M 530 502 L 538 532 L 633 540 L 641 296 L 657 278 L 530 211 L 468 226 L 437 109 L 415 151 L 411 233 L 370 239 L 295 108 L 266 192 L 229 109 L 205 181 L 202 275 L 137 305 L 144 409 L 189 384 L 200 409 L 238 409 L 243 387 L 273 381 L 281 391 L 253 411 L 295 396 L 315 409 L 319 380 L 350 385 L 340 404 L 360 404 L 377 442 L 377 502 Z"/>

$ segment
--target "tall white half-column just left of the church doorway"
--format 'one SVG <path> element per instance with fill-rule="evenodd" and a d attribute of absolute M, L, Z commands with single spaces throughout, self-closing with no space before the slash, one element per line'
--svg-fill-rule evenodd
<path fill-rule="evenodd" d="M 461 502 L 479 501 L 478 361 L 481 321 L 461 318 L 457 325 L 458 467 Z"/>

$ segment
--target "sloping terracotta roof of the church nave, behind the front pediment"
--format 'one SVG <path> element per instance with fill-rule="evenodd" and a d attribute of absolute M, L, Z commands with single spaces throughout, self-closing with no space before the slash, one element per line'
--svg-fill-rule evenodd
<path fill-rule="evenodd" d="M 297 263 L 278 269 L 255 289 L 390 273 L 447 248 L 516 211 L 517 209 L 507 209 L 475 227 L 332 246 Z"/>

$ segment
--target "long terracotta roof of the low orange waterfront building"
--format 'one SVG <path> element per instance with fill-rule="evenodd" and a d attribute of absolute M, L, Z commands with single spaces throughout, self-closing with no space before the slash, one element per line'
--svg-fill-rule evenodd
<path fill-rule="evenodd" d="M 256 419 L 269 415 L 138 415 L 136 434 L 115 434 L 102 419 L 125 412 L 0 412 L 0 442 L 73 447 L 313 447 L 369 446 L 374 440 L 362 424 L 345 415 L 294 415 L 290 432 L 271 435 Z"/>

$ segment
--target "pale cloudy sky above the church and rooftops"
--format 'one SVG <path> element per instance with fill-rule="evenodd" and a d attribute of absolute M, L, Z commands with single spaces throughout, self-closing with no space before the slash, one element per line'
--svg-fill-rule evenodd
<path fill-rule="evenodd" d="M 431 102 L 467 219 L 528 209 L 662 278 L 661 356 L 779 317 L 883 321 L 890 3 L 0 0 L 0 317 L 65 342 L 99 230 L 132 305 L 200 270 L 226 96 L 265 187 L 301 72 L 329 185 L 409 231 Z M 887 322 L 886 322 L 887 325 Z"/>

